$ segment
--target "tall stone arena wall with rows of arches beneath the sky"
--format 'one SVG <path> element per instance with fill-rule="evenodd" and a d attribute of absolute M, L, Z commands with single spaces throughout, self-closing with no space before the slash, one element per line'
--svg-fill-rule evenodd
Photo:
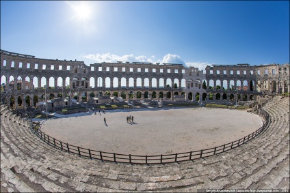
<path fill-rule="evenodd" d="M 70 98 L 78 93 L 78 101 L 82 95 L 88 101 L 91 93 L 114 97 L 114 92 L 118 92 L 126 100 L 174 101 L 174 95 L 183 95 L 186 101 L 235 104 L 237 100 L 256 100 L 265 94 L 289 92 L 289 63 L 212 65 L 205 70 L 181 64 L 128 61 L 85 65 L 83 61 L 39 59 L 1 50 L 3 76 L 5 87 L 1 85 L 1 99 L 21 97 L 23 106 L 27 96 L 29 104 L 33 104 L 34 95 L 43 99 L 43 95 L 49 98 L 51 93 L 55 97 L 61 93 Z M 202 87 L 204 81 L 206 89 Z M 139 98 L 138 93 L 141 93 Z M 198 95 L 200 98 L 196 98 Z M 17 100 L 14 103 L 17 108 Z"/>

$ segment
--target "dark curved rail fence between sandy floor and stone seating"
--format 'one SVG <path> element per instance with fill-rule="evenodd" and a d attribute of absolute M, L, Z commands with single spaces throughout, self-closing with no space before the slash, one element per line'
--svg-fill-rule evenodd
<path fill-rule="evenodd" d="M 9 106 L 8 106 L 9 108 Z M 198 151 L 188 151 L 185 153 L 174 153 L 174 154 L 166 154 L 166 155 L 127 155 L 127 154 L 120 154 L 120 153 L 110 153 L 105 151 L 96 151 L 93 149 L 86 149 L 83 147 L 70 145 L 68 143 L 64 143 L 61 140 L 57 140 L 53 138 L 41 130 L 37 128 L 37 125 L 34 125 L 32 122 L 31 117 L 28 117 L 27 114 L 22 113 L 19 110 L 12 109 L 13 113 L 19 115 L 21 117 L 26 117 L 27 121 L 29 121 L 29 129 L 32 133 L 36 134 L 38 138 L 43 140 L 48 145 L 51 145 L 57 149 L 61 149 L 62 151 L 66 151 L 68 153 L 74 153 L 79 155 L 80 157 L 86 157 L 90 159 L 96 159 L 101 161 L 109 161 L 109 162 L 120 162 L 120 163 L 131 163 L 131 164 L 166 164 L 166 163 L 173 163 L 173 162 L 184 162 L 188 160 L 196 160 L 200 158 L 206 158 L 212 155 L 217 155 L 219 153 L 223 153 L 230 149 L 234 149 L 239 147 L 248 141 L 256 138 L 259 134 L 267 130 L 269 124 L 271 123 L 271 117 L 269 114 L 263 110 L 257 110 L 257 114 L 263 117 L 265 121 L 263 121 L 263 126 L 249 134 L 248 136 L 244 136 L 239 140 L 235 140 L 231 143 L 226 143 L 224 145 L 220 145 L 218 147 L 213 147 L 209 149 L 202 149 Z"/>

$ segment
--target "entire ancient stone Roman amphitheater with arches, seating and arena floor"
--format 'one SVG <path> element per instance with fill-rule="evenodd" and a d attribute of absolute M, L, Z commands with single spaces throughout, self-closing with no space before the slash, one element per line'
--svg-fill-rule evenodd
<path fill-rule="evenodd" d="M 1 50 L 1 192 L 289 192 L 289 82 L 289 63 L 85 65 Z M 36 112 L 63 118 L 40 126 Z"/>

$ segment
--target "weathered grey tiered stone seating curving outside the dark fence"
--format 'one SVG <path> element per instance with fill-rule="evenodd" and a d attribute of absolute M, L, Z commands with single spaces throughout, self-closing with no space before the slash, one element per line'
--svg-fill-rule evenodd
<path fill-rule="evenodd" d="M 101 162 L 60 151 L 23 127 L 19 116 L 14 122 L 11 111 L 5 117 L 3 110 L 1 192 L 289 189 L 289 98 L 274 98 L 263 108 L 271 115 L 272 123 L 245 145 L 200 160 L 150 166 Z"/>

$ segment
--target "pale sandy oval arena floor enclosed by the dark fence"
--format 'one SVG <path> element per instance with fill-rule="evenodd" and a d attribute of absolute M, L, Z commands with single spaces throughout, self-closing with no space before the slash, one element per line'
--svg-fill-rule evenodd
<path fill-rule="evenodd" d="M 135 123 L 127 123 L 129 115 Z M 245 110 L 219 108 L 111 110 L 69 116 L 46 121 L 42 132 L 71 145 L 132 155 L 207 149 L 243 138 L 263 125 L 259 116 Z"/>

